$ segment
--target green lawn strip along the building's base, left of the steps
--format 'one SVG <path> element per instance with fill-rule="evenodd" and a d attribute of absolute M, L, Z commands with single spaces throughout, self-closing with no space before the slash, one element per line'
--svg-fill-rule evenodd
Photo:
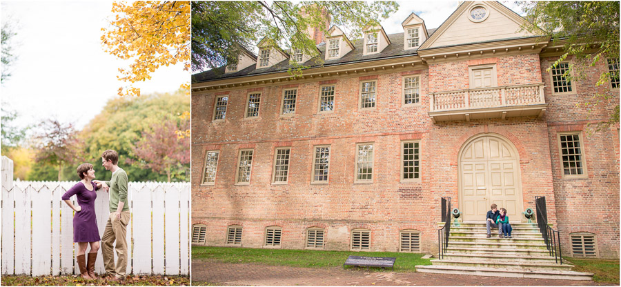
<path fill-rule="evenodd" d="M 431 265 L 429 259 L 421 259 L 424 255 L 420 253 L 192 246 L 192 259 L 209 259 L 224 263 L 257 263 L 308 268 L 332 268 L 343 266 L 349 255 L 396 257 L 395 271 L 397 272 L 413 272 L 416 270 L 416 268 L 414 268 L 416 265 Z M 347 266 L 346 268 L 353 267 Z"/>

